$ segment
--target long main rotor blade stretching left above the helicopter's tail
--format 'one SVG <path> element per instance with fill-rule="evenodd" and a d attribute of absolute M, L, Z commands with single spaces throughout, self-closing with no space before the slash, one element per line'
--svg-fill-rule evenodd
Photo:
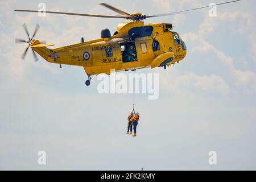
<path fill-rule="evenodd" d="M 110 16 L 110 15 L 93 15 L 93 14 L 81 14 L 81 13 L 66 13 L 66 12 L 59 12 L 59 11 L 35 11 L 35 10 L 14 10 L 14 11 L 21 11 L 21 12 L 44 12 L 44 13 L 52 13 L 52 14 L 63 14 L 63 15 L 75 15 L 75 16 L 92 16 L 98 18 L 127 18 L 125 16 Z"/>

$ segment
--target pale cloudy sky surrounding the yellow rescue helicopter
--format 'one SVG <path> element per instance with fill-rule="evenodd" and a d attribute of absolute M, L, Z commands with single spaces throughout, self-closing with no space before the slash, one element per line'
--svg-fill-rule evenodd
<path fill-rule="evenodd" d="M 135 94 L 140 113 L 137 137 L 125 135 L 133 94 L 99 94 L 82 67 L 50 64 L 31 51 L 22 28 L 40 30 L 36 39 L 55 47 L 100 38 L 120 19 L 65 15 L 39 17 L 14 9 L 115 14 L 104 1 L 0 0 L 0 169 L 2 170 L 255 170 L 256 169 L 256 2 L 242 0 L 175 16 L 146 19 L 173 23 L 187 44 L 174 67 L 141 69 L 159 73 L 159 98 Z M 128 13 L 162 14 L 216 1 L 108 1 Z M 127 74 L 127 73 L 126 73 Z M 38 152 L 46 151 L 46 165 Z M 209 151 L 217 164 L 209 165 Z"/>

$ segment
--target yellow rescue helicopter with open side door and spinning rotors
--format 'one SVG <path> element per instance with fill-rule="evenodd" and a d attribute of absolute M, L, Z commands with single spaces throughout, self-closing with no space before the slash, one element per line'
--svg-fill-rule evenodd
<path fill-rule="evenodd" d="M 237 1 L 218 3 L 216 6 Z M 114 69 L 115 72 L 135 71 L 136 69 L 148 67 L 164 67 L 164 69 L 166 69 L 167 66 L 169 67 L 176 62 L 179 63 L 180 60 L 184 59 L 187 53 L 187 47 L 180 35 L 172 31 L 172 23 L 145 24 L 143 20 L 146 18 L 175 15 L 187 11 L 208 8 L 208 6 L 204 6 L 190 10 L 148 16 L 138 12 L 129 14 L 106 3 L 101 3 L 100 5 L 120 15 L 94 15 L 57 11 L 43 11 L 43 13 L 119 18 L 130 21 L 118 24 L 117 31 L 115 31 L 113 35 L 110 34 L 108 29 L 104 29 L 101 31 L 100 39 L 84 42 L 82 38 L 81 43 L 53 49 L 47 48 L 48 46 L 54 46 L 53 44 L 46 44 L 34 39 L 36 32 L 39 30 L 39 25 L 36 25 L 34 34 L 30 38 L 26 24 L 23 24 L 28 40 L 15 40 L 16 43 L 28 43 L 28 47 L 23 53 L 22 59 L 25 58 L 28 48 L 32 48 L 36 61 L 38 60 L 36 53 L 38 53 L 49 63 L 60 64 L 60 68 L 61 64 L 84 67 L 88 76 L 88 80 L 85 81 L 87 86 L 90 85 L 92 75 L 101 73 L 110 75 L 110 69 Z M 39 12 L 35 10 L 14 11 Z"/>

